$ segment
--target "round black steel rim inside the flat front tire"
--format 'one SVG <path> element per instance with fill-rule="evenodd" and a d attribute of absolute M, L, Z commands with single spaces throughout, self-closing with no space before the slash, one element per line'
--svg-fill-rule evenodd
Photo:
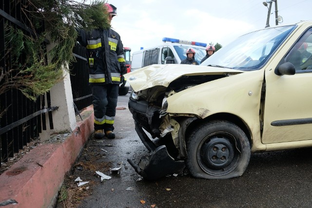
<path fill-rule="evenodd" d="M 197 162 L 211 175 L 223 175 L 236 168 L 239 152 L 235 138 L 227 132 L 215 132 L 206 136 L 197 149 Z"/>

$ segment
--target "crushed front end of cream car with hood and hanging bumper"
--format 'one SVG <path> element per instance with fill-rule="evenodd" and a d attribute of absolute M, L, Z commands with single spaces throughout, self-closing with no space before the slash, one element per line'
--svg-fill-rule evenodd
<path fill-rule="evenodd" d="M 147 77 L 151 77 L 151 74 L 158 76 L 158 83 L 154 80 L 153 87 L 150 87 L 148 82 L 139 80 L 144 77 L 136 77 L 136 74 L 139 74 L 138 71 L 128 78 L 130 83 L 134 81 L 132 83 L 134 91 L 129 99 L 129 110 L 133 114 L 137 134 L 150 152 L 149 155 L 142 157 L 138 164 L 131 159 L 128 159 L 128 162 L 146 179 L 153 180 L 165 175 L 181 173 L 184 170 L 186 157 L 184 130 L 192 121 L 198 119 L 197 116 L 191 114 L 171 115 L 167 113 L 166 99 L 196 85 L 228 76 L 228 73 L 220 69 L 208 73 L 205 67 L 197 66 L 196 70 L 194 66 L 185 67 L 186 71 L 192 68 L 194 72 L 183 73 L 179 65 L 146 67 L 143 70 L 146 71 Z M 237 70 L 235 72 L 237 73 Z M 136 84 L 136 81 L 140 84 Z M 153 141 L 157 138 L 161 140 L 158 142 L 160 145 Z"/>

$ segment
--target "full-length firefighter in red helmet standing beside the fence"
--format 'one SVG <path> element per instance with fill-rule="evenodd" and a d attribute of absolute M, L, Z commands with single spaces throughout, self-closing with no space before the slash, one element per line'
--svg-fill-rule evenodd
<path fill-rule="evenodd" d="M 108 21 L 111 23 L 117 15 L 117 8 L 105 3 L 104 9 L 107 9 Z M 123 82 L 122 75 L 127 73 L 120 36 L 111 27 L 98 28 L 91 32 L 81 29 L 77 31 L 78 42 L 87 49 L 89 84 L 92 86 L 94 107 L 94 136 L 102 139 L 105 135 L 114 139 L 119 83 Z"/>

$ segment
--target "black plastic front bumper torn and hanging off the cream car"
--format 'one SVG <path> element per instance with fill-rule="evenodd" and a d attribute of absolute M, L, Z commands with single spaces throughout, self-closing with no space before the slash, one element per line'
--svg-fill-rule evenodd
<path fill-rule="evenodd" d="M 159 108 L 148 106 L 145 101 L 130 99 L 129 110 L 135 119 L 137 134 L 150 152 L 147 156 L 142 157 L 137 165 L 128 159 L 129 164 L 138 174 L 148 180 L 182 172 L 185 167 L 184 161 L 176 161 L 169 155 L 165 145 L 157 147 L 143 131 L 144 128 L 151 133 L 153 138 L 160 135 L 158 129 L 161 123 Z"/>

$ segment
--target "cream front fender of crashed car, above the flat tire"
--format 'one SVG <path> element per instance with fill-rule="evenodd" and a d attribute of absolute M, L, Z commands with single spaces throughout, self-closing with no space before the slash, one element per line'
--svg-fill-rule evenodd
<path fill-rule="evenodd" d="M 254 120 L 259 117 L 263 77 L 263 71 L 253 71 L 194 86 L 166 98 L 166 112 L 189 113 L 200 118 L 231 113 L 244 120 Z"/>

